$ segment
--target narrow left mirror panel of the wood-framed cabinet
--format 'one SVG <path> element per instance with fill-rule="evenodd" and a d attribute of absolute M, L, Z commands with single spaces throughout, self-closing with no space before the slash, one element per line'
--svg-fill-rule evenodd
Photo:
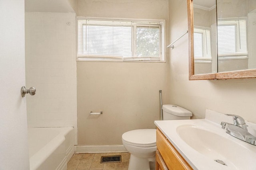
<path fill-rule="evenodd" d="M 193 0 L 194 74 L 217 72 L 216 0 Z"/>

